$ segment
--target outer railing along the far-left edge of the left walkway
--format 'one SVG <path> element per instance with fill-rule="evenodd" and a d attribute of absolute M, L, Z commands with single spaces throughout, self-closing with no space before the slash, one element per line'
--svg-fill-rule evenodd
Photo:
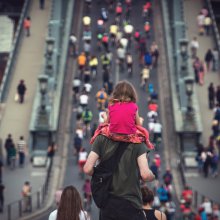
<path fill-rule="evenodd" d="M 11 49 L 11 52 L 9 54 L 7 65 L 6 65 L 6 68 L 5 68 L 4 75 L 3 75 L 3 79 L 2 79 L 2 82 L 1 82 L 1 85 L 0 85 L 0 102 L 4 101 L 5 96 L 7 94 L 7 90 L 8 90 L 8 87 L 9 87 L 8 83 L 10 81 L 9 79 L 10 79 L 11 74 L 12 74 L 13 66 L 16 62 L 16 55 L 17 55 L 17 51 L 18 51 L 18 48 L 19 48 L 19 43 L 20 43 L 20 40 L 21 40 L 21 37 L 22 37 L 23 21 L 24 21 L 24 18 L 26 16 L 26 14 L 27 14 L 28 8 L 30 6 L 30 2 L 31 2 L 31 0 L 25 0 L 23 8 L 22 8 L 22 12 L 21 12 L 21 15 L 20 15 L 20 18 L 19 18 L 18 26 L 17 26 L 16 32 L 15 32 L 15 37 L 14 37 L 14 40 L 13 40 L 13 43 L 12 43 L 12 49 Z"/>

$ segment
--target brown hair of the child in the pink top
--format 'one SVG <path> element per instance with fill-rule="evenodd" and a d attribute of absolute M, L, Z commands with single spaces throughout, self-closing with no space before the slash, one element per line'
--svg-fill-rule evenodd
<path fill-rule="evenodd" d="M 137 93 L 134 86 L 128 81 L 120 81 L 115 86 L 110 103 L 113 103 L 114 100 L 120 102 L 137 102 Z"/>

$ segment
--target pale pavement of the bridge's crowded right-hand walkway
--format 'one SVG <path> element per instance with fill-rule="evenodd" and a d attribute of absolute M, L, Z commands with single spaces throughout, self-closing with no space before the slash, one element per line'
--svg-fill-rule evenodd
<path fill-rule="evenodd" d="M 198 27 L 196 17 L 200 10 L 203 7 L 203 0 L 185 0 L 184 1 L 184 14 L 187 25 L 187 35 L 189 42 L 193 39 L 194 36 L 198 38 L 199 41 L 199 50 L 198 56 L 199 58 L 204 60 L 204 55 L 208 49 L 213 49 L 214 38 L 212 35 L 210 36 L 199 36 L 198 35 Z M 203 86 L 195 85 L 195 89 L 198 96 L 198 103 L 201 111 L 202 125 L 203 125 L 203 135 L 202 135 L 202 143 L 204 146 L 208 145 L 209 136 L 212 133 L 211 123 L 213 119 L 213 111 L 209 109 L 208 106 L 208 90 L 210 82 L 213 82 L 215 87 L 220 84 L 220 73 L 219 70 L 217 72 L 208 72 L 205 75 L 205 83 Z M 197 190 L 198 193 L 201 193 L 204 196 L 208 196 L 212 200 L 218 202 L 220 204 L 220 191 L 218 190 L 220 184 L 220 176 L 213 179 L 211 177 L 204 178 L 197 173 L 196 170 L 186 172 L 187 182 L 194 190 Z"/>

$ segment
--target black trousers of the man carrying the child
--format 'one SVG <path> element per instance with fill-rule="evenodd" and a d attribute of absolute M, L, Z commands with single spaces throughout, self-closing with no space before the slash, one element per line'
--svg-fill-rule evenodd
<path fill-rule="evenodd" d="M 110 197 L 105 208 L 100 209 L 99 220 L 146 220 L 142 209 L 136 209 L 130 201 Z"/>

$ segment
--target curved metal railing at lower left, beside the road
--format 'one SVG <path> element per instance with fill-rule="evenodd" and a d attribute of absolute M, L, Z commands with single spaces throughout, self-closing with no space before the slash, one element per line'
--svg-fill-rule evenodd
<path fill-rule="evenodd" d="M 31 193 L 26 198 L 8 204 L 6 213 L 7 220 L 17 220 L 18 218 L 27 216 L 44 206 L 50 184 L 51 169 L 52 160 L 48 158 L 47 174 L 44 184 L 36 192 Z"/>

